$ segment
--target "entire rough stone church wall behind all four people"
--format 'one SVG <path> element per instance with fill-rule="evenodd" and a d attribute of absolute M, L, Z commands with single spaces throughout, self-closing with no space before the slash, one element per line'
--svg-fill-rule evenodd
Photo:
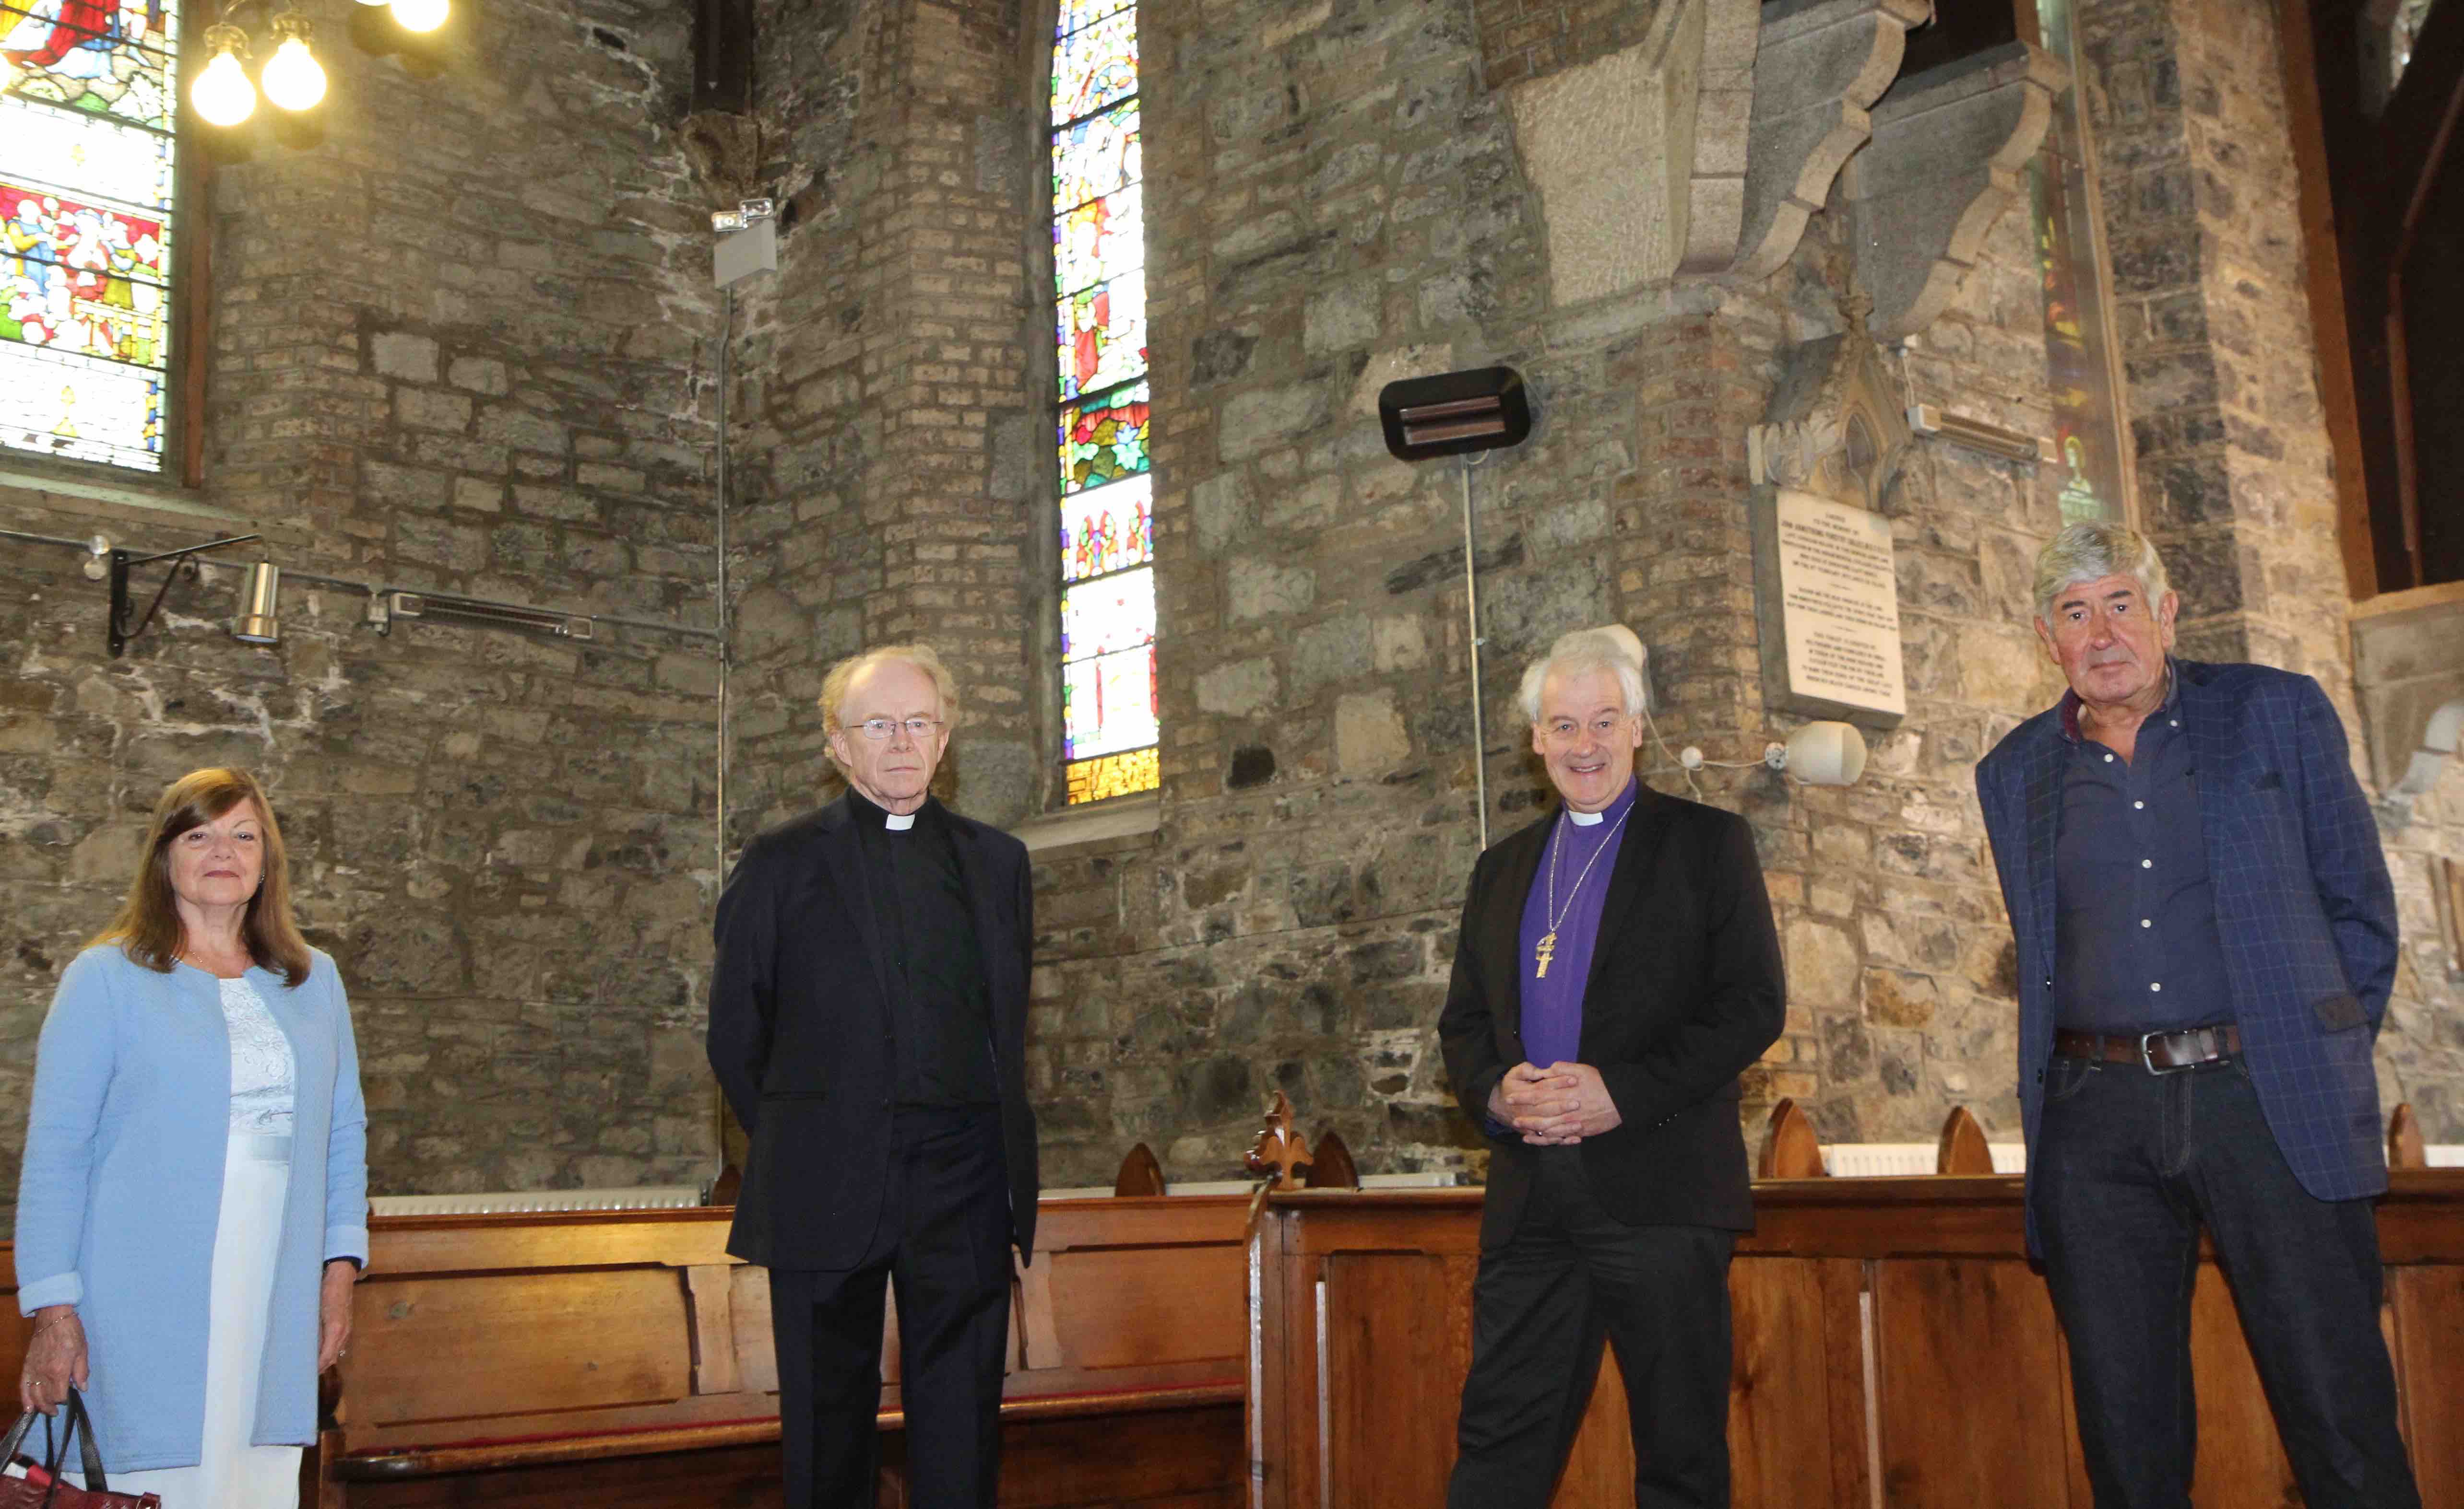
<path fill-rule="evenodd" d="M 2082 5 L 2126 401 L 2186 645 L 2311 670 L 2351 706 L 2255 15 Z M 1478 1164 L 1434 1039 L 1473 790 L 1486 773 L 1493 837 L 1547 810 L 1513 689 L 1552 635 L 1611 618 L 1651 645 L 1653 785 L 1745 812 L 1762 849 L 1791 1007 L 1747 1120 L 1794 1095 L 1826 1140 L 1924 1140 L 1964 1103 L 2016 1137 L 1971 771 L 2057 692 L 2025 628 L 2053 468 L 1907 453 L 1885 512 L 1910 714 L 1855 788 L 1688 783 L 1678 746 L 1752 761 L 1794 726 L 1764 706 L 1745 428 L 1786 354 L 1841 327 L 1838 199 L 1764 281 L 1636 271 L 1629 212 L 1666 190 L 1624 182 L 1619 219 L 1567 185 L 1643 172 L 1587 148 L 1579 111 L 1592 69 L 1641 69 L 1656 0 L 1143 20 L 1165 743 L 1163 790 L 1104 837 L 1035 817 L 1057 800 L 1047 17 L 1005 0 L 766 0 L 749 118 L 685 121 L 683 17 L 621 0 L 473 7 L 434 76 L 328 59 L 325 138 L 251 128 L 217 170 L 207 487 L 170 500 L 207 512 L 5 487 L 0 527 L 136 549 L 259 527 L 303 571 L 710 623 L 732 318 L 727 842 L 825 788 L 830 660 L 951 655 L 958 805 L 1027 817 L 1037 847 L 1052 1184 L 1109 1182 L 1133 1140 L 1175 1179 L 1232 1174 L 1276 1088 L 1365 1169 Z M 784 204 L 781 263 L 722 300 L 702 214 L 749 192 Z M 2045 431 L 2043 322 L 2011 212 L 1890 364 L 1915 401 Z M 1385 455 L 1385 382 L 1488 362 L 1530 384 L 1525 446 L 1469 473 Z M 111 662 L 76 556 L 0 551 L 0 1031 L 32 1039 L 160 783 L 244 761 L 355 985 L 379 1189 L 707 1177 L 707 647 L 379 638 L 355 593 L 296 586 L 283 645 L 249 650 L 219 633 L 232 586 L 177 583 Z M 2457 807 L 2442 785 L 2388 812 L 2412 943 L 2383 1073 L 2432 1140 L 2464 1137 L 2427 881 L 2464 852 Z"/>

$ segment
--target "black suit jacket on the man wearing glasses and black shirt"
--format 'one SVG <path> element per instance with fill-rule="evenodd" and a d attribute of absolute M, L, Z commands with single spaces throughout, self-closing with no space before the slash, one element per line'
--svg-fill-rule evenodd
<path fill-rule="evenodd" d="M 1027 849 L 949 812 L 993 1007 L 1010 1231 L 1035 1251 L 1027 1105 Z M 752 1135 L 727 1251 L 766 1268 L 853 1268 L 890 1169 L 897 1022 L 877 906 L 848 798 L 756 837 L 719 896 L 710 1068 Z"/>

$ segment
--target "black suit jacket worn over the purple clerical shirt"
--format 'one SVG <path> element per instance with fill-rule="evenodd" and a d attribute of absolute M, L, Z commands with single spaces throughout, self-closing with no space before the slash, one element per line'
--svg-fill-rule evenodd
<path fill-rule="evenodd" d="M 1471 1125 L 1496 1147 L 1481 1246 L 1506 1243 L 1530 1196 L 1535 1147 L 1498 1137 L 1488 1093 L 1523 1063 L 1523 903 L 1547 859 L 1542 817 L 1471 867 L 1439 1036 Z M 1582 992 L 1579 1063 L 1624 1118 L 1579 1145 L 1602 1206 L 1629 1226 L 1752 1231 L 1737 1076 L 1779 1039 L 1786 982 L 1742 817 L 1643 788 L 1609 871 Z"/>

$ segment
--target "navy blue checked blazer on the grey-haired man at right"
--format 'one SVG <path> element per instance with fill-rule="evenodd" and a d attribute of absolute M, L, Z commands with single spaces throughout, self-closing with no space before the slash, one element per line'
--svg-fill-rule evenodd
<path fill-rule="evenodd" d="M 2284 1162 L 2319 1199 L 2388 1187 L 2370 1049 L 2395 985 L 2395 886 L 2319 682 L 2264 665 L 2176 660 L 2208 881 L 2242 1056 Z M 2030 1169 L 2053 1059 L 2053 842 L 2062 709 L 1976 766 L 2018 940 L 2018 1100 Z M 2030 1246 L 2035 1223 L 2030 1219 Z"/>

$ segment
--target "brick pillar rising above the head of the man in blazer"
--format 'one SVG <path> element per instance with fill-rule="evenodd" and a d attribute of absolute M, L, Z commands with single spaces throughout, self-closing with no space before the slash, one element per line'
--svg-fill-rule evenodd
<path fill-rule="evenodd" d="M 2282 59 L 2264 7 L 2080 7 L 2146 524 L 2183 647 L 2316 674 L 2351 711 Z"/>

